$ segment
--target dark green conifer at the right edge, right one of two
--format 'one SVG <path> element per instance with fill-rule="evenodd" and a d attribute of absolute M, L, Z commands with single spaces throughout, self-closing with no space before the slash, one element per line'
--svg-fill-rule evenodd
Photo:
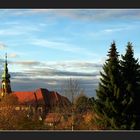
<path fill-rule="evenodd" d="M 127 44 L 126 54 L 122 55 L 121 73 L 123 86 L 123 117 L 126 129 L 140 129 L 140 66 L 134 58 L 133 46 Z"/>

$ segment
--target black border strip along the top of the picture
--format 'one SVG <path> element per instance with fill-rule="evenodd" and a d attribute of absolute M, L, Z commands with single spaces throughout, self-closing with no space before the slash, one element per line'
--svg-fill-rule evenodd
<path fill-rule="evenodd" d="M 140 8 L 139 0 L 0 0 L 0 8 Z"/>

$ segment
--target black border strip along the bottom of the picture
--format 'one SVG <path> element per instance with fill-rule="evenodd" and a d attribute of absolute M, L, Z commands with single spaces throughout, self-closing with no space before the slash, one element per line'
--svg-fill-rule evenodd
<path fill-rule="evenodd" d="M 139 132 L 0 132 L 1 140 L 139 140 Z"/>

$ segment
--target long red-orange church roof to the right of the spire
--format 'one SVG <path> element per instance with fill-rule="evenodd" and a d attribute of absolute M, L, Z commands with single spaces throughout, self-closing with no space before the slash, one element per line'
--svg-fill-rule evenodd
<path fill-rule="evenodd" d="M 70 101 L 55 91 L 39 88 L 35 91 L 14 91 L 12 92 L 18 97 L 18 101 L 25 105 L 69 105 Z"/>

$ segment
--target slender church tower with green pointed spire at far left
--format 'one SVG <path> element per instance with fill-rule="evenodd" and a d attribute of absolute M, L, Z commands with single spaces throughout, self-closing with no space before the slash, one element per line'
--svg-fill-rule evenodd
<path fill-rule="evenodd" d="M 11 91 L 11 86 L 10 86 L 10 74 L 8 73 L 8 67 L 7 67 L 7 54 L 5 54 L 5 64 L 4 64 L 4 71 L 2 74 L 2 92 L 1 96 L 5 96 L 7 94 L 10 94 Z"/>

